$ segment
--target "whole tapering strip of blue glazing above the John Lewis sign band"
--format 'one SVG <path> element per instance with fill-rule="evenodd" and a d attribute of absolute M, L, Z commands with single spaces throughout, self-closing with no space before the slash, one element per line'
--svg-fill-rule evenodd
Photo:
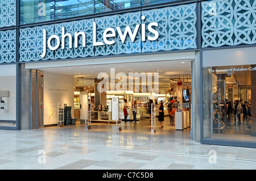
<path fill-rule="evenodd" d="M 181 0 L 20 0 L 20 24 L 92 15 Z"/>

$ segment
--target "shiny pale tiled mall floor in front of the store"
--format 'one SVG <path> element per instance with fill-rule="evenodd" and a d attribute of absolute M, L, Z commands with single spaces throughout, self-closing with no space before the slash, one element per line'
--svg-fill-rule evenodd
<path fill-rule="evenodd" d="M 168 117 L 151 134 L 151 121 L 76 123 L 63 128 L 0 130 L 0 169 L 28 170 L 233 170 L 256 169 L 253 148 L 203 145 L 190 128 L 175 131 Z"/>

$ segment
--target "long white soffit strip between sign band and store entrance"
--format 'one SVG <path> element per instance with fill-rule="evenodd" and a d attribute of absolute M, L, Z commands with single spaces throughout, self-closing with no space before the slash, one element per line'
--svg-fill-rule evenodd
<path fill-rule="evenodd" d="M 93 57 L 79 60 L 65 61 L 48 61 L 48 62 L 33 62 L 27 63 L 26 69 L 42 69 L 42 68 L 57 68 L 57 67 L 72 67 L 82 65 L 102 65 L 102 64 L 119 64 L 128 62 L 150 62 L 150 61 L 192 61 L 195 59 L 195 52 L 183 53 L 157 53 L 157 54 L 141 54 L 141 55 L 126 55 L 116 57 Z"/>

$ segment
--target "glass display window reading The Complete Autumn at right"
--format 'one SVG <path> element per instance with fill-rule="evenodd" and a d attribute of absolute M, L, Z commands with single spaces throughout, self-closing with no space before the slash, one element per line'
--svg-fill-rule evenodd
<path fill-rule="evenodd" d="M 255 77 L 256 65 L 203 68 L 204 138 L 256 141 Z"/>

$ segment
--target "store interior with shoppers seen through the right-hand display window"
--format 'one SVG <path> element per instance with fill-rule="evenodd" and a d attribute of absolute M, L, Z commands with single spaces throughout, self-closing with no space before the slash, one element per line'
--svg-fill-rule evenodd
<path fill-rule="evenodd" d="M 254 65 L 216 66 L 208 70 L 212 76 L 210 120 L 213 120 L 213 138 L 230 134 L 233 139 L 242 140 L 241 135 L 252 134 L 254 70 Z M 255 141 L 255 138 L 246 140 Z"/>

